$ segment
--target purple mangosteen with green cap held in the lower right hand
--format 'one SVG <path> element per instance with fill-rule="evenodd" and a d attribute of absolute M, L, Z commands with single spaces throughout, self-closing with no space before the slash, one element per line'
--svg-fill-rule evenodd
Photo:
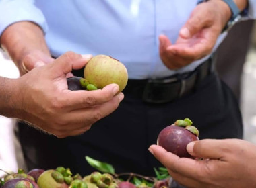
<path fill-rule="evenodd" d="M 199 140 L 199 132 L 191 124 L 192 122 L 188 118 L 177 120 L 175 124 L 167 126 L 160 132 L 157 144 L 179 157 L 193 158 L 187 152 L 187 144 Z"/>

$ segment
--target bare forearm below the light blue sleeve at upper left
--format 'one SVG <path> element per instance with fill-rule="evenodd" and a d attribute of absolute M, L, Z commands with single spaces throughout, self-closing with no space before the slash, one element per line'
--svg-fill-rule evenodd
<path fill-rule="evenodd" d="M 27 54 L 40 51 L 51 56 L 44 40 L 44 33 L 39 26 L 30 21 L 13 23 L 6 28 L 0 40 L 1 47 L 8 52 L 21 72 L 24 71 L 22 60 Z"/>

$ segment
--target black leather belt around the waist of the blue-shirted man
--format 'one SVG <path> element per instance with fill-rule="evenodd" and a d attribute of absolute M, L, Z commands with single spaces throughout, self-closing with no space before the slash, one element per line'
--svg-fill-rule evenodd
<path fill-rule="evenodd" d="M 133 95 L 146 103 L 168 103 L 193 92 L 197 83 L 213 72 L 214 56 L 211 56 L 189 73 L 161 79 L 129 79 L 123 93 Z"/>

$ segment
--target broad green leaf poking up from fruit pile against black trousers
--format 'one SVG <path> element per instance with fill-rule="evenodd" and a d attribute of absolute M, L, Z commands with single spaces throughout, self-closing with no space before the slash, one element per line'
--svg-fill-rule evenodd
<path fill-rule="evenodd" d="M 106 162 L 100 162 L 99 160 L 95 160 L 93 158 L 90 158 L 89 156 L 86 156 L 86 161 L 95 169 L 98 171 L 101 171 L 102 173 L 110 173 L 115 174 L 115 169 L 111 164 L 108 164 Z"/>

